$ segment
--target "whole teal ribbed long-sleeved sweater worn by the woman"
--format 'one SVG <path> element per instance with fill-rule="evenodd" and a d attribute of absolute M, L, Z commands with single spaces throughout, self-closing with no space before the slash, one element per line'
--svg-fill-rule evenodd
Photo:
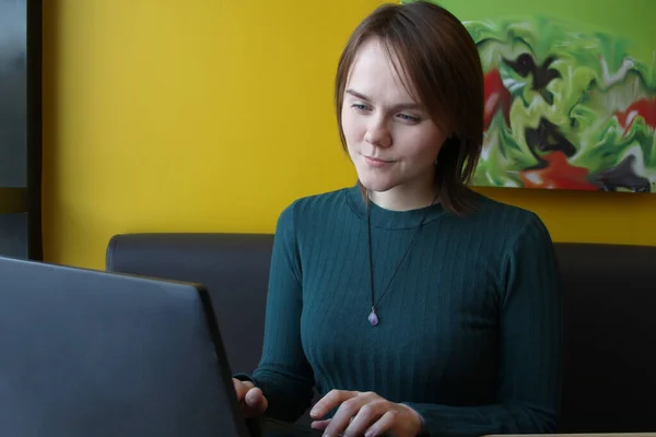
<path fill-rule="evenodd" d="M 431 436 L 554 432 L 561 290 L 531 212 L 477 194 L 478 212 L 371 206 L 377 300 L 426 220 L 372 327 L 366 206 L 358 187 L 280 215 L 265 345 L 251 375 L 268 415 L 294 421 L 312 388 L 374 391 L 415 409 Z"/>

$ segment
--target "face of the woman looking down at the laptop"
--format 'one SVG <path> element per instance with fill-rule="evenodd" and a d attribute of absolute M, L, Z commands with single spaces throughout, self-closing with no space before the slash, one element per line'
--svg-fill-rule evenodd
<path fill-rule="evenodd" d="M 433 187 L 446 133 L 403 83 L 410 81 L 397 74 L 377 39 L 360 47 L 347 81 L 341 121 L 360 181 L 372 191 L 409 194 Z"/>

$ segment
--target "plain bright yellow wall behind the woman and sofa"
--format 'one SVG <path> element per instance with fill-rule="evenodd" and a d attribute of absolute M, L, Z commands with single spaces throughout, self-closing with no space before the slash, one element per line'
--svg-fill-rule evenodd
<path fill-rule="evenodd" d="M 103 268 L 129 232 L 272 232 L 353 182 L 332 76 L 379 0 L 44 2 L 47 261 Z M 656 245 L 656 197 L 485 189 L 555 240 Z"/>

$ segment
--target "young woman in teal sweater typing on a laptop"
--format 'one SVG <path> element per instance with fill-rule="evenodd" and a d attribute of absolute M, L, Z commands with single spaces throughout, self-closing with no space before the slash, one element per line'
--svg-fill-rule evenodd
<path fill-rule="evenodd" d="M 311 415 L 325 435 L 554 432 L 561 292 L 531 212 L 471 191 L 477 47 L 443 8 L 375 10 L 336 80 L 358 184 L 280 215 L 265 345 L 236 375 L 244 414 Z"/>

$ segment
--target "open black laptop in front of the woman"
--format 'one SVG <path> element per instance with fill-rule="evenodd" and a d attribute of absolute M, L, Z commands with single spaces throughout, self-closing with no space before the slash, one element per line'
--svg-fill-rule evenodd
<path fill-rule="evenodd" d="M 203 286 L 0 257 L 0 435 L 320 433 L 242 417 Z"/>

